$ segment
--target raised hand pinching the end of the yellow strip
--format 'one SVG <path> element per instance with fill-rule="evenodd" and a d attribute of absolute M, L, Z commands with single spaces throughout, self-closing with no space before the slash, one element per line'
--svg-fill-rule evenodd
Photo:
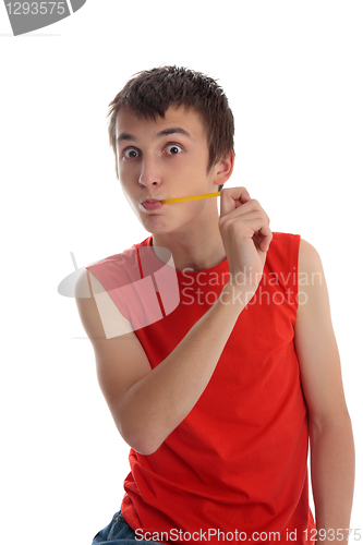
<path fill-rule="evenodd" d="M 267 214 L 245 187 L 221 190 L 219 231 L 229 264 L 229 284 L 247 288 L 252 298 L 263 275 L 273 233 Z"/>

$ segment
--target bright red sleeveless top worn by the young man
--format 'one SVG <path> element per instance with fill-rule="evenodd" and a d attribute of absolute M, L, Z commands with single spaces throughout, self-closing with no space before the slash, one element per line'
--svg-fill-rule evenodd
<path fill-rule="evenodd" d="M 299 235 L 274 233 L 258 289 L 203 395 L 155 453 L 131 449 L 122 514 L 138 538 L 310 541 L 307 411 L 294 349 L 299 244 Z M 136 271 L 143 278 L 138 249 L 152 245 L 149 237 L 87 267 L 129 319 L 132 305 L 120 301 L 114 286 Z M 132 274 L 120 280 L 125 269 Z M 179 305 L 166 313 L 157 293 L 161 319 L 135 329 L 152 368 L 215 303 L 228 261 L 177 275 Z"/>

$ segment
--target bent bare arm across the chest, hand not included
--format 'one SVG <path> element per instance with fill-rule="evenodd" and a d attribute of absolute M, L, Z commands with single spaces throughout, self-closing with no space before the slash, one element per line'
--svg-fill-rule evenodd
<path fill-rule="evenodd" d="M 132 448 L 150 455 L 203 393 L 241 308 L 218 301 L 152 371 L 133 331 L 107 339 L 94 298 L 76 303 L 114 423 Z"/>

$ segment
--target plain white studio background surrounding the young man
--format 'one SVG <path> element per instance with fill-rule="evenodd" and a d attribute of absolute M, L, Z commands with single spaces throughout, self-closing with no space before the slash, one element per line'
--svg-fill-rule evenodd
<path fill-rule="evenodd" d="M 82 267 L 148 237 L 116 179 L 106 114 L 160 64 L 219 80 L 237 131 L 227 186 L 245 185 L 273 230 L 322 256 L 356 444 L 351 528 L 363 525 L 362 27 L 350 0 L 88 0 L 13 37 L 1 3 L 2 543 L 87 545 L 120 508 L 129 448 L 57 287 L 70 252 Z"/>

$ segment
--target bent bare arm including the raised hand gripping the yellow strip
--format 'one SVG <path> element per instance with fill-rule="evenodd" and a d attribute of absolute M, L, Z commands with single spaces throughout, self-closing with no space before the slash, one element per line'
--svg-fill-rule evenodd
<path fill-rule="evenodd" d="M 246 267 L 251 272 L 251 266 L 255 267 L 256 275 L 261 274 L 271 235 L 268 218 L 258 203 L 251 202 L 238 211 L 243 203 L 251 201 L 243 191 L 241 187 L 223 190 L 227 193 L 221 203 L 220 231 L 230 266 L 230 282 L 217 302 L 154 370 L 133 331 L 107 339 L 94 296 L 76 298 L 81 320 L 94 347 L 98 382 L 114 423 L 123 439 L 142 455 L 155 452 L 193 409 L 240 313 L 257 289 L 258 282 L 241 286 L 234 277 L 239 271 L 244 274 Z M 233 204 L 234 201 L 239 203 Z M 228 214 L 226 225 L 222 216 Z M 255 233 L 259 242 L 252 244 Z M 86 280 L 85 271 L 80 283 Z"/>

